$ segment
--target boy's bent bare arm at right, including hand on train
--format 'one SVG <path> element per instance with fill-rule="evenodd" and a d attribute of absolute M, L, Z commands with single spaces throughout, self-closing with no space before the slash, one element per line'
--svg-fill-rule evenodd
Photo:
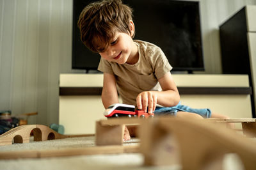
<path fill-rule="evenodd" d="M 177 86 L 170 72 L 164 74 L 159 80 L 163 91 L 144 91 L 136 98 L 138 109 L 143 109 L 152 113 L 156 109 L 156 104 L 164 107 L 172 107 L 179 104 L 180 95 Z"/>

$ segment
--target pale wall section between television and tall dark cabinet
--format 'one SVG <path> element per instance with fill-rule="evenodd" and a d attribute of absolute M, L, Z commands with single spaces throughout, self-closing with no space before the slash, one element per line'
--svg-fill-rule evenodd
<path fill-rule="evenodd" d="M 201 24 L 206 73 L 221 73 L 219 26 L 255 0 L 201 0 Z"/>

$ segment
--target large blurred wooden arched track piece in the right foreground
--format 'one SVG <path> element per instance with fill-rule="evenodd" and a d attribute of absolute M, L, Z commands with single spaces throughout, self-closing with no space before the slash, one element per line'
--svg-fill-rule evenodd
<path fill-rule="evenodd" d="M 255 169 L 256 143 L 215 123 L 180 118 L 144 120 L 140 139 L 145 165 L 170 165 L 179 157 L 182 169 L 203 169 L 208 163 L 221 163 L 225 153 L 237 153 L 245 169 Z M 221 169 L 222 164 L 217 165 L 215 169 Z"/>

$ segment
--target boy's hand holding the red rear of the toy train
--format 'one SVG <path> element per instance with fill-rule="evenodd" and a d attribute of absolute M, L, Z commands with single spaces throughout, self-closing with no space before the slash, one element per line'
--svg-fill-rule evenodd
<path fill-rule="evenodd" d="M 143 91 L 136 98 L 137 107 L 144 112 L 152 114 L 156 109 L 157 96 L 153 91 Z"/>

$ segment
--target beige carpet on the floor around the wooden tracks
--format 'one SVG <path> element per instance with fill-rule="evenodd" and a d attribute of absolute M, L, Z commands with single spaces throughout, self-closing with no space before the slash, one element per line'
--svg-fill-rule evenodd
<path fill-rule="evenodd" d="M 0 153 L 3 151 L 27 151 L 27 150 L 61 150 L 64 148 L 85 148 L 95 146 L 94 137 L 76 137 L 51 141 L 34 142 L 28 144 L 12 144 L 0 146 Z M 138 139 L 127 141 L 124 145 L 138 144 Z M 239 158 L 234 154 L 228 154 L 223 163 L 224 169 L 243 169 L 237 164 Z M 179 165 L 173 166 L 143 166 L 143 156 L 140 153 L 122 153 L 108 155 L 82 155 L 75 157 L 55 158 L 24 158 L 13 160 L 0 160 L 0 169 L 19 170 L 70 170 L 70 169 L 181 169 Z"/>

